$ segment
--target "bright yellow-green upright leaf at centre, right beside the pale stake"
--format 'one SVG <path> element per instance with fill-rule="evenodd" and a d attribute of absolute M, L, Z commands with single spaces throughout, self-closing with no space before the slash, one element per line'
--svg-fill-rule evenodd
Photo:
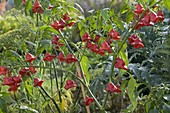
<path fill-rule="evenodd" d="M 88 57 L 83 56 L 81 59 L 80 65 L 82 67 L 83 73 L 86 74 L 87 83 L 90 82 L 90 76 L 89 76 L 89 72 L 88 72 L 88 64 L 89 64 Z"/>

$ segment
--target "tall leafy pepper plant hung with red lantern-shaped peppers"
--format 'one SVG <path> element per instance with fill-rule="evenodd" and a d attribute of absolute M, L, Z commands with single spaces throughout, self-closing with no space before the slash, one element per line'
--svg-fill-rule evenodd
<path fill-rule="evenodd" d="M 88 17 L 72 1 L 14 2 L 17 11 L 8 13 L 21 38 L 0 38 L 0 112 L 169 112 L 169 84 L 142 83 L 128 66 L 128 47 L 145 48 L 140 29 L 163 23 L 169 0 L 124 0 L 119 13 L 112 0 Z"/>

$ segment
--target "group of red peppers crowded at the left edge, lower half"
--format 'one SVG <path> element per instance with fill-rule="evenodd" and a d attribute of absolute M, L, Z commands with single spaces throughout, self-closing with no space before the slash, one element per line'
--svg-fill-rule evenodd
<path fill-rule="evenodd" d="M 4 75 L 2 85 L 9 86 L 8 91 L 17 91 L 20 83 L 22 82 L 22 77 L 30 76 L 31 74 L 35 74 L 37 70 L 32 65 L 32 62 L 36 59 L 36 57 L 30 53 L 26 54 L 26 62 L 30 63 L 30 67 L 24 67 L 19 70 L 19 75 L 12 76 L 10 70 L 4 66 L 0 66 L 0 75 Z M 42 86 L 43 80 L 39 80 L 38 78 L 34 78 L 34 86 Z"/>

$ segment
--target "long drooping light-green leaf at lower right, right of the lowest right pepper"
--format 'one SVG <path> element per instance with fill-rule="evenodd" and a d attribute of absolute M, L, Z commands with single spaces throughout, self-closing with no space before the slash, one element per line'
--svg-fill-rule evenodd
<path fill-rule="evenodd" d="M 128 91 L 128 96 L 129 99 L 132 103 L 132 108 L 131 108 L 131 112 L 133 112 L 135 110 L 135 108 L 137 107 L 137 97 L 135 95 L 135 89 L 136 89 L 136 81 L 135 79 L 131 76 L 129 82 L 128 82 L 128 87 L 127 87 L 127 91 Z"/>

